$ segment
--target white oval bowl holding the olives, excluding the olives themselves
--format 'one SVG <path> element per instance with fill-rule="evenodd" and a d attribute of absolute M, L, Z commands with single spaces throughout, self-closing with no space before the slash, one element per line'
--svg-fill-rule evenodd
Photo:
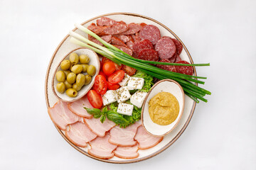
<path fill-rule="evenodd" d="M 90 62 L 89 65 L 94 65 L 96 68 L 96 73 L 94 76 L 92 76 L 92 81 L 90 82 L 90 84 L 87 84 L 85 86 L 82 86 L 82 89 L 80 89 L 80 91 L 78 91 L 78 96 L 71 98 L 69 97 L 67 94 L 65 94 L 65 92 L 63 94 L 60 94 L 57 90 L 56 90 L 56 85 L 58 84 L 57 79 L 55 78 L 55 74 L 56 72 L 58 72 L 60 69 L 60 64 L 61 62 L 63 62 L 63 60 L 65 59 L 69 59 L 69 55 L 75 52 L 79 55 L 87 55 L 88 57 L 90 57 Z M 79 98 L 82 98 L 82 96 L 85 96 L 85 94 L 87 94 L 87 92 L 92 88 L 94 82 L 95 82 L 95 77 L 97 74 L 99 74 L 100 72 L 100 59 L 97 56 L 96 52 L 86 48 L 86 47 L 79 47 L 76 48 L 75 50 L 70 51 L 67 55 L 65 55 L 65 57 L 63 57 L 63 60 L 60 61 L 60 63 L 58 64 L 58 67 L 55 69 L 55 72 L 53 74 L 53 80 L 52 80 L 52 89 L 53 89 L 53 94 L 60 99 L 61 101 L 67 101 L 67 102 L 73 102 L 78 100 Z"/>

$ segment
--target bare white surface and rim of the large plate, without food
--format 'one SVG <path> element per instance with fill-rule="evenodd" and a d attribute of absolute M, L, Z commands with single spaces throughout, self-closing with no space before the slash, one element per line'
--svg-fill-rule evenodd
<path fill-rule="evenodd" d="M 158 21 L 156 21 L 152 18 L 146 17 L 146 16 L 142 16 L 142 15 L 139 15 L 136 13 L 107 13 L 102 16 L 112 18 L 116 21 L 124 21 L 126 23 L 152 24 L 159 28 L 159 30 L 161 32 L 161 36 L 170 36 L 171 38 L 176 38 L 176 39 L 180 40 L 177 37 L 177 35 L 175 35 L 174 32 L 172 32 L 169 28 L 164 26 L 164 24 L 159 23 Z M 82 25 L 87 27 L 90 25 L 90 23 L 96 23 L 97 18 L 100 18 L 102 16 L 97 16 L 88 21 L 85 21 L 84 23 L 82 23 Z M 67 33 L 68 33 L 68 31 L 69 30 L 67 29 Z M 74 31 L 76 33 L 80 33 L 81 35 L 85 35 L 85 33 L 82 33 L 80 30 L 74 29 Z M 85 35 L 85 36 L 87 36 L 87 35 Z M 65 36 L 65 38 L 60 42 L 60 45 L 58 45 L 57 49 L 53 53 L 53 57 L 51 58 L 50 63 L 48 65 L 48 69 L 47 69 L 47 73 L 46 73 L 46 105 L 48 108 L 52 107 L 54 105 L 54 103 L 56 103 L 58 101 L 58 98 L 55 97 L 55 95 L 53 94 L 52 87 L 50 86 L 51 81 L 53 79 L 53 73 L 54 73 L 56 67 L 58 67 L 58 64 L 63 59 L 63 56 L 65 56 L 66 54 L 68 54 L 68 52 L 74 50 L 75 48 L 79 47 L 78 45 L 74 45 L 74 44 L 70 43 L 69 40 L 70 40 L 70 36 L 69 35 Z M 181 43 L 183 44 L 182 41 L 181 41 Z M 181 52 L 180 57 L 182 60 L 186 60 L 188 62 L 193 63 L 191 55 L 189 54 L 189 52 L 186 49 L 184 44 L 183 44 L 183 50 Z M 195 70 L 195 75 L 196 75 L 196 70 Z M 87 147 L 82 148 L 82 147 L 77 147 L 77 146 L 73 145 L 73 143 L 71 143 L 67 139 L 67 137 L 65 137 L 64 132 L 62 130 L 60 130 L 57 126 L 55 126 L 55 128 L 58 130 L 58 132 L 60 132 L 60 135 L 62 135 L 63 138 L 72 147 L 77 149 L 82 154 L 87 155 L 88 157 L 100 160 L 102 162 L 110 162 L 110 163 L 117 163 L 117 164 L 139 162 L 144 159 L 149 159 L 151 157 L 156 156 L 156 154 L 163 152 L 166 148 L 170 147 L 176 140 L 178 140 L 178 137 L 181 136 L 183 131 L 188 126 L 188 123 L 190 122 L 190 120 L 192 118 L 193 111 L 195 110 L 195 107 L 196 107 L 196 102 L 194 102 L 188 96 L 185 96 L 185 107 L 184 107 L 183 115 L 181 117 L 180 122 L 176 126 L 176 128 L 174 130 L 172 130 L 168 135 L 164 136 L 164 140 L 162 140 L 155 147 L 152 147 L 150 149 L 145 149 L 145 150 L 139 149 L 139 151 L 138 151 L 139 157 L 137 157 L 136 159 L 120 159 L 118 157 L 113 157 L 112 159 L 99 159 L 97 157 L 93 157 L 87 153 Z M 88 145 L 88 147 L 90 147 L 90 146 Z"/>

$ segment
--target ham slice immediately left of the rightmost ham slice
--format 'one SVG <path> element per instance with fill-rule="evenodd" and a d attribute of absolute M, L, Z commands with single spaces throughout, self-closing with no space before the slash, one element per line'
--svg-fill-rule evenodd
<path fill-rule="evenodd" d="M 137 145 L 134 136 L 139 125 L 141 125 L 141 123 L 136 122 L 133 125 L 129 125 L 127 128 L 119 128 L 119 126 L 115 126 L 110 130 L 109 142 L 121 147 L 132 147 Z"/>

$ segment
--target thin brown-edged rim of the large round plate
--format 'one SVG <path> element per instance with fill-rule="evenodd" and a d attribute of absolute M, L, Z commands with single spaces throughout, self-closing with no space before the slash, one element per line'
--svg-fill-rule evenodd
<path fill-rule="evenodd" d="M 87 21 L 85 21 L 84 23 L 82 23 L 82 25 L 84 25 L 85 23 L 88 23 L 90 21 L 93 21 L 97 18 L 100 18 L 102 16 L 110 16 L 110 15 L 127 15 L 127 16 L 137 16 L 137 17 L 141 17 L 141 18 L 146 18 L 148 20 L 151 20 L 151 21 L 154 21 L 155 23 L 158 23 L 159 25 L 161 25 L 162 27 L 166 28 L 166 30 L 168 30 L 172 35 L 174 35 L 180 42 L 181 44 L 183 45 L 183 48 L 184 50 L 186 51 L 188 57 L 189 57 L 189 60 L 191 61 L 191 63 L 193 64 L 193 60 L 191 58 L 191 55 L 189 54 L 186 46 L 183 44 L 183 42 L 178 38 L 178 36 L 173 32 L 171 31 L 169 28 L 167 28 L 166 26 L 164 26 L 164 24 L 162 23 L 159 23 L 159 21 L 156 21 L 154 20 L 153 18 L 149 18 L 147 16 L 142 16 L 140 14 L 137 14 L 137 13 L 127 13 L 127 12 L 116 12 L 116 13 L 106 13 L 106 14 L 102 14 L 100 16 L 96 16 L 94 18 L 91 18 Z M 77 28 L 74 28 L 73 31 L 77 30 Z M 48 102 L 48 77 L 49 77 L 49 70 L 50 70 L 50 67 L 51 67 L 51 64 L 53 63 L 53 59 L 56 55 L 56 53 L 58 52 L 59 48 L 61 45 L 63 45 L 63 42 L 68 38 L 69 35 L 66 35 L 65 38 L 60 42 L 60 44 L 58 45 L 58 47 L 56 48 L 55 52 L 53 52 L 53 56 L 51 57 L 50 59 L 50 63 L 48 65 L 48 68 L 47 68 L 47 72 L 46 72 L 46 82 L 45 82 L 45 95 L 46 95 L 46 106 L 47 108 L 50 107 L 49 105 L 49 102 Z M 194 71 L 195 71 L 195 76 L 197 76 L 196 74 L 196 69 L 195 67 L 193 67 Z M 197 85 L 197 84 L 196 84 Z M 146 159 L 149 159 L 151 157 L 154 157 L 156 156 L 157 154 L 163 152 L 165 149 L 167 149 L 168 147 L 170 147 L 172 144 L 174 144 L 174 142 L 176 142 L 176 140 L 178 140 L 178 137 L 181 136 L 181 134 L 184 132 L 184 130 L 186 130 L 187 126 L 188 126 L 188 123 L 190 122 L 192 116 L 193 116 L 193 112 L 195 111 L 195 108 L 196 108 L 196 102 L 194 101 L 193 102 L 193 107 L 191 109 L 191 113 L 188 117 L 188 119 L 186 120 L 186 123 L 185 125 L 183 125 L 183 128 L 178 132 L 178 134 L 176 135 L 176 137 L 174 137 L 173 140 L 171 140 L 166 146 L 162 147 L 161 149 L 159 149 L 157 152 L 154 152 L 153 154 L 149 154 L 147 157 L 143 157 L 141 159 L 132 159 L 132 160 L 124 160 L 124 161 L 113 161 L 113 160 L 109 160 L 109 159 L 99 159 L 97 157 L 92 157 L 90 154 L 87 154 L 86 152 L 84 152 L 82 149 L 80 149 L 79 147 L 73 145 L 73 143 L 71 143 L 67 137 L 65 137 L 65 135 L 63 134 L 63 132 L 55 125 L 55 128 L 58 130 L 58 132 L 60 133 L 60 135 L 72 146 L 74 147 L 75 149 L 77 149 L 79 152 L 81 152 L 82 154 L 85 154 L 87 155 L 87 157 L 91 157 L 92 159 L 96 159 L 96 160 L 99 160 L 99 161 L 102 161 L 102 162 L 108 162 L 108 163 L 113 163 L 113 164 L 128 164 L 128 163 L 134 163 L 134 162 L 141 162 L 143 160 L 146 160 Z"/>

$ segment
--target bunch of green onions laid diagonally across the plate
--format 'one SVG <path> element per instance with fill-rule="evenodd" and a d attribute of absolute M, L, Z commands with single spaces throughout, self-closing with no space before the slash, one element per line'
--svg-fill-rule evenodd
<path fill-rule="evenodd" d="M 197 76 L 190 76 L 186 74 L 180 74 L 176 72 L 170 72 L 164 69 L 160 69 L 158 67 L 154 67 L 151 64 L 163 64 L 163 65 L 178 65 L 178 66 L 209 66 L 210 63 L 206 64 L 180 64 L 180 63 L 168 63 L 168 62 L 153 62 L 153 61 L 146 61 L 146 60 L 139 60 L 135 59 L 134 57 L 128 55 L 127 53 L 119 50 L 117 47 L 114 47 L 110 43 L 105 42 L 102 40 L 98 35 L 93 33 L 91 30 L 88 30 L 84 26 L 80 24 L 75 24 L 75 26 L 82 30 L 83 32 L 92 35 L 92 37 L 96 38 L 100 42 L 102 42 L 105 47 L 101 45 L 97 45 L 95 42 L 87 40 L 87 38 L 70 31 L 70 35 L 73 38 L 70 38 L 70 42 L 74 44 L 80 45 L 82 47 L 90 48 L 91 50 L 97 52 L 98 54 L 107 57 L 108 59 L 116 62 L 117 64 L 124 64 L 129 67 L 133 67 L 134 69 L 141 70 L 146 74 L 149 74 L 157 79 L 173 79 L 181 84 L 184 93 L 192 98 L 196 103 L 198 103 L 198 99 L 201 101 L 207 102 L 206 98 L 203 98 L 206 94 L 211 94 L 210 91 L 206 89 L 202 89 L 201 87 L 197 86 L 196 84 L 204 84 L 204 81 L 199 81 L 198 79 L 206 79 L 206 77 L 197 77 Z M 193 83 L 196 84 L 193 84 Z M 198 99 L 197 99 L 198 98 Z"/>

